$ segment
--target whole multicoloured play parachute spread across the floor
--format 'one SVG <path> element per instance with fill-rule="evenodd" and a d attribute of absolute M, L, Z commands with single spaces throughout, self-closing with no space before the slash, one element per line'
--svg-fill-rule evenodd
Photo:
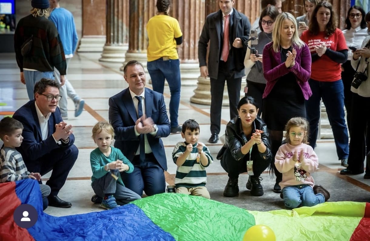
<path fill-rule="evenodd" d="M 31 204 L 38 211 L 33 227 L 20 228 L 14 222 L 20 204 Z M 328 202 L 260 212 L 163 193 L 112 210 L 53 217 L 42 211 L 36 180 L 25 179 L 0 184 L 0 207 L 0 240 L 241 241 L 255 224 L 269 226 L 282 241 L 370 240 L 369 203 Z"/>

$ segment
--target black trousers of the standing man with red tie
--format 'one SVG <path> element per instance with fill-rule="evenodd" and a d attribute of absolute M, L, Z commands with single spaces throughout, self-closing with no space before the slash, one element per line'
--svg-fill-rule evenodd
<path fill-rule="evenodd" d="M 228 86 L 230 119 L 238 115 L 238 103 L 240 100 L 240 88 L 242 78 L 234 78 L 234 73 L 225 69 L 225 62 L 220 61 L 217 79 L 211 78 L 211 133 L 220 134 L 221 108 L 225 80 Z"/>

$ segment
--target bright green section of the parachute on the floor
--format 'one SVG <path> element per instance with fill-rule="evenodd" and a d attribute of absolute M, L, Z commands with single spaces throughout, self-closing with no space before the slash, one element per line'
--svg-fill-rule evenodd
<path fill-rule="evenodd" d="M 245 209 L 204 197 L 162 193 L 132 203 L 179 241 L 242 241 L 246 230 L 255 225 Z"/>

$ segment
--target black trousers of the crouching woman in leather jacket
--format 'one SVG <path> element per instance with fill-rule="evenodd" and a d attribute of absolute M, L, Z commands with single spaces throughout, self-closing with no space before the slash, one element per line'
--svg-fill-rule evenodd
<path fill-rule="evenodd" d="M 231 155 L 230 148 L 227 148 L 221 158 L 221 166 L 228 173 L 229 178 L 238 178 L 240 173 L 247 171 L 247 161 L 249 161 L 249 154 L 240 160 L 235 160 Z M 253 161 L 253 176 L 258 177 L 269 167 L 271 159 L 260 158 L 251 159 L 251 161 Z"/>

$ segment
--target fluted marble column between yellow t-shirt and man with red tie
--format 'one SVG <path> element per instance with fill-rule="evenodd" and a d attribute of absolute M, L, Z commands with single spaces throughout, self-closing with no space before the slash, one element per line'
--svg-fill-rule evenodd
<path fill-rule="evenodd" d="M 205 20 L 205 1 L 174 0 L 170 16 L 179 21 L 182 45 L 178 48 L 182 86 L 196 86 L 199 76 L 198 41 Z"/>

